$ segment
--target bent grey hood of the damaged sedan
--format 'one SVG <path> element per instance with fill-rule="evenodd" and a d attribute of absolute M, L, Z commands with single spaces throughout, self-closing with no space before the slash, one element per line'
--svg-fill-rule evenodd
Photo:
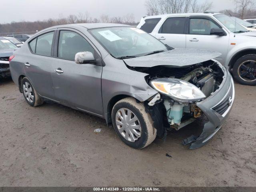
<path fill-rule="evenodd" d="M 131 67 L 154 67 L 158 65 L 183 67 L 204 62 L 220 56 L 221 53 L 201 49 L 173 49 L 157 54 L 124 59 Z"/>

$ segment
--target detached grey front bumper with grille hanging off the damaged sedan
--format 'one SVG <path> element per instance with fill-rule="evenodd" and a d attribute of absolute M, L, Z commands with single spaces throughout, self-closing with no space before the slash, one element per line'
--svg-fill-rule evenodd
<path fill-rule="evenodd" d="M 206 144 L 220 130 L 232 109 L 235 97 L 234 82 L 232 76 L 226 68 L 224 69 L 224 78 L 220 88 L 214 94 L 197 106 L 204 112 L 208 122 L 204 124 L 201 135 L 194 139 L 188 138 L 183 144 L 190 144 L 190 149 L 200 148 Z"/>

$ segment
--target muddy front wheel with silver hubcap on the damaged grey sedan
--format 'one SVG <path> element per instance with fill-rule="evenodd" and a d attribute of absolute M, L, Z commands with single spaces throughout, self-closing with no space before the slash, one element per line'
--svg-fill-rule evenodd
<path fill-rule="evenodd" d="M 123 115 L 124 113 L 125 115 Z M 131 122 L 122 121 L 123 116 L 125 116 L 125 119 L 131 120 Z M 153 126 L 153 120 L 150 114 L 146 113 L 144 104 L 137 103 L 134 98 L 129 97 L 118 101 L 112 109 L 111 117 L 114 129 L 119 138 L 132 148 L 144 148 L 156 138 L 156 129 Z M 134 120 L 136 121 L 132 122 Z M 124 126 L 120 125 L 120 122 Z M 129 122 L 129 124 L 125 125 L 124 122 Z M 127 137 L 126 134 L 128 135 Z"/>

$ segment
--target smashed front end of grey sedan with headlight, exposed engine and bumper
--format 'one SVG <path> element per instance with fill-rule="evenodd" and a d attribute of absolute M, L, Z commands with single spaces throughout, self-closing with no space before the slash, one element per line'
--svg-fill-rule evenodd
<path fill-rule="evenodd" d="M 234 83 L 216 60 L 176 66 L 133 67 L 147 73 L 146 81 L 159 93 L 146 102 L 159 137 L 207 117 L 202 133 L 183 140 L 190 149 L 203 146 L 226 120 L 234 101 Z"/>

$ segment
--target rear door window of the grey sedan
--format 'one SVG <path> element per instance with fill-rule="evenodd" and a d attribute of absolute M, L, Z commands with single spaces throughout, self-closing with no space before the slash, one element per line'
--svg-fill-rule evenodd
<path fill-rule="evenodd" d="M 36 54 L 51 56 L 53 34 L 54 32 L 49 32 L 37 37 Z"/>

